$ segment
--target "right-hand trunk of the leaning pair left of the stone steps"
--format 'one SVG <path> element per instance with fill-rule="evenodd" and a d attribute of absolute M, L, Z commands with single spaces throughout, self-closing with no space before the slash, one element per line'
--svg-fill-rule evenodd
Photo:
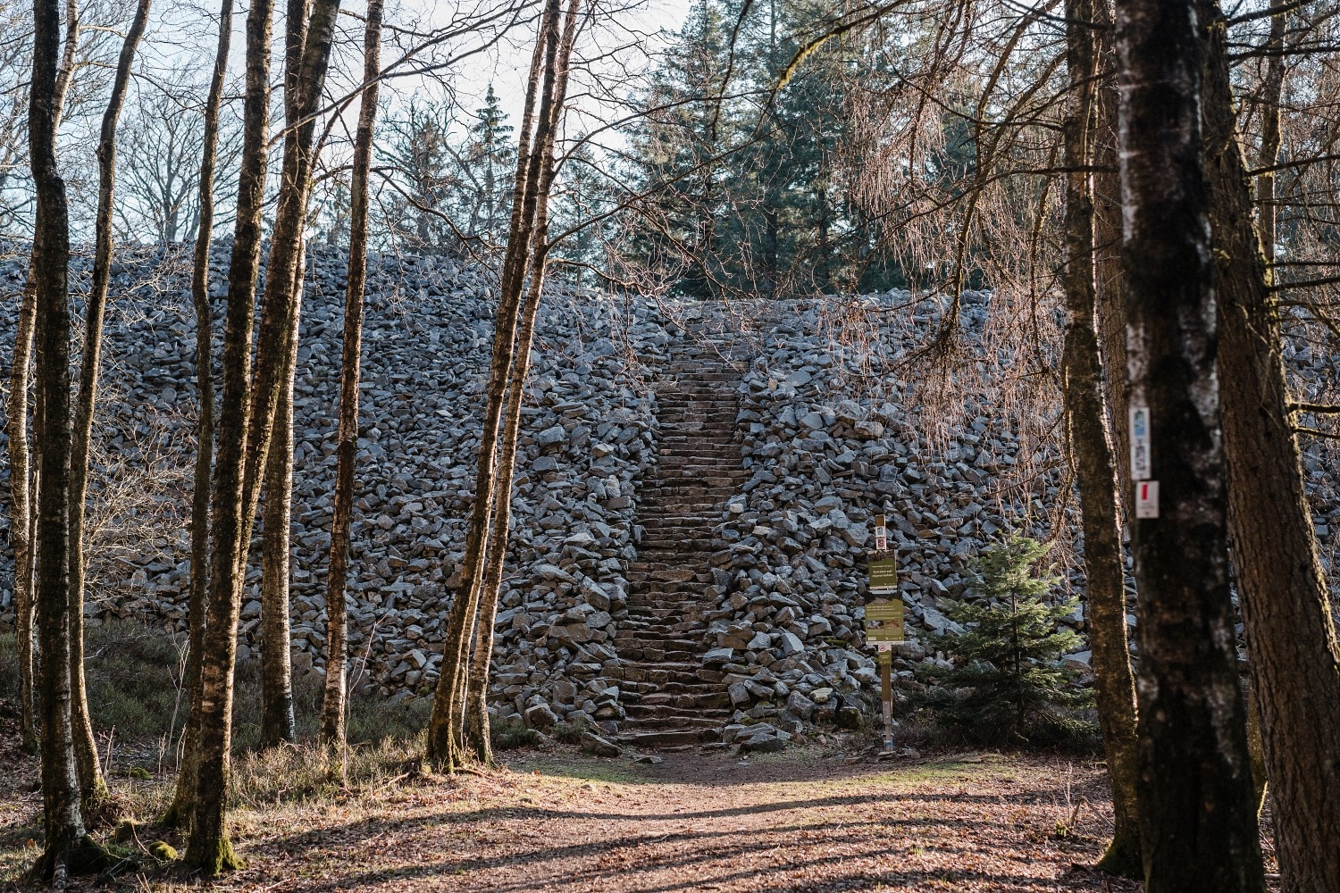
<path fill-rule="evenodd" d="M 533 224 L 527 238 L 529 254 L 529 282 L 525 301 L 521 305 L 520 325 L 516 345 L 512 349 L 512 364 L 507 379 L 507 415 L 503 422 L 501 449 L 498 451 L 496 506 L 493 526 L 488 534 L 486 568 L 481 582 L 480 616 L 474 627 L 474 653 L 466 684 L 465 730 L 469 750 L 484 764 L 493 762 L 489 742 L 489 663 L 493 657 L 493 625 L 497 617 L 498 594 L 503 588 L 503 566 L 507 561 L 508 533 L 512 521 L 512 475 L 516 469 L 517 438 L 521 431 L 521 403 L 525 398 L 525 379 L 531 370 L 531 344 L 535 340 L 535 323 L 540 313 L 540 299 L 544 293 L 544 272 L 548 256 L 549 193 L 553 187 L 555 142 L 563 106 L 567 100 L 568 63 L 572 58 L 572 44 L 576 39 L 576 21 L 580 0 L 568 0 L 563 24 L 563 39 L 557 54 L 549 63 L 553 71 L 552 92 L 541 104 L 541 118 L 536 129 L 532 157 L 537 157 L 537 169 L 532 166 L 536 185 L 528 187 L 535 193 Z M 547 108 L 545 108 L 547 106 Z M 512 240 L 508 240 L 511 248 Z"/>

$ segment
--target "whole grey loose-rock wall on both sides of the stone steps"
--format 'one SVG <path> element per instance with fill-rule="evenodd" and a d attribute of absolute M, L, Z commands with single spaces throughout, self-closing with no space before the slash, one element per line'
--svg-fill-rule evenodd
<path fill-rule="evenodd" d="M 308 260 L 295 386 L 292 594 L 295 645 L 319 668 L 346 256 L 314 245 Z M 220 245 L 216 332 L 225 264 Z M 159 248 L 123 252 L 114 273 L 95 432 L 91 624 L 137 617 L 185 629 L 196 414 L 188 268 L 185 249 Z M 21 252 L 0 260 L 4 357 L 24 269 Z M 87 258 L 72 273 L 75 291 L 87 288 Z M 742 308 L 753 320 L 746 335 L 736 317 L 701 305 L 548 295 L 498 616 L 498 714 L 564 704 L 570 720 L 575 710 L 607 730 L 623 716 L 614 641 L 626 616 L 627 562 L 636 557 L 638 486 L 657 461 L 650 386 L 685 337 L 685 317 L 695 331 L 721 332 L 717 340 L 736 356 L 752 356 L 738 391 L 750 477 L 717 527 L 724 553 L 713 560 L 705 659 L 721 673 L 734 719 L 785 728 L 840 711 L 844 696 L 876 684 L 860 635 L 875 514 L 887 515 L 906 570 L 911 637 L 925 643 L 951 628 L 947 606 L 973 597 L 970 560 L 1005 530 L 1048 536 L 1065 479 L 1057 408 L 1014 399 L 1018 357 L 984 329 L 989 301 L 963 296 L 965 349 L 974 359 L 967 368 L 976 372 L 942 382 L 947 408 L 935 410 L 926 399 L 934 387 L 922 380 L 914 398 L 909 380 L 918 378 L 917 357 L 941 315 L 900 309 L 906 293 L 858 299 L 836 313 L 815 301 Z M 449 258 L 371 260 L 350 644 L 355 667 L 366 668 L 362 684 L 386 696 L 425 694 L 437 676 L 472 498 L 492 313 L 493 280 L 481 270 Z M 847 323 L 835 324 L 843 316 Z M 1335 375 L 1335 357 L 1290 349 L 1290 361 L 1308 396 Z M 0 380 L 8 383 L 7 360 Z M 1309 446 L 1305 466 L 1329 557 L 1340 499 L 1321 450 Z M 7 494 L 0 483 L 0 501 Z M 7 506 L 0 517 L 8 525 Z M 5 549 L 5 625 L 13 623 L 11 580 Z M 244 659 L 259 636 L 257 598 L 253 568 Z M 1071 623 L 1081 627 L 1083 613 Z M 898 672 L 935 659 L 913 644 Z"/>

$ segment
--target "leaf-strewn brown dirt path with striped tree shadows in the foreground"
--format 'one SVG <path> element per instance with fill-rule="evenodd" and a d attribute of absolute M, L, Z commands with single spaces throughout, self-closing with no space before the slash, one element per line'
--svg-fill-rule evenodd
<path fill-rule="evenodd" d="M 1096 858 L 1108 809 L 1099 771 L 1064 760 L 531 755 L 344 805 L 243 811 L 248 868 L 222 889 L 1135 889 L 1075 866 Z"/>

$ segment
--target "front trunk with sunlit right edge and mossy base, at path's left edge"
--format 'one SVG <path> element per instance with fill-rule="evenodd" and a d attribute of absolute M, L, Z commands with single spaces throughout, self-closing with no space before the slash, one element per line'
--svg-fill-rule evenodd
<path fill-rule="evenodd" d="M 196 785 L 190 797 L 186 864 L 205 877 L 241 865 L 228 841 L 225 809 L 232 742 L 233 664 L 241 613 L 244 545 L 252 514 L 244 511 L 243 478 L 248 440 L 248 386 L 260 266 L 261 209 L 269 118 L 272 0 L 253 0 L 247 16 L 247 92 L 243 102 L 243 159 L 237 182 L 237 218 L 228 269 L 228 319 L 224 331 L 224 387 L 218 446 L 210 490 L 209 596 L 205 647 L 200 655 L 200 700 L 192 716 L 198 742 Z"/>

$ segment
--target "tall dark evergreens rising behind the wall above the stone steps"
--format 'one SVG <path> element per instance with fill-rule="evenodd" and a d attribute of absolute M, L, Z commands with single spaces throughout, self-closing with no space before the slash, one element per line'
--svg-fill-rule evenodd
<path fill-rule="evenodd" d="M 854 94 L 882 64 L 832 40 L 780 91 L 832 9 L 812 0 L 697 0 L 646 92 L 632 135 L 639 206 L 630 260 L 687 296 L 883 291 L 904 284 L 875 252 L 843 146 Z"/>

